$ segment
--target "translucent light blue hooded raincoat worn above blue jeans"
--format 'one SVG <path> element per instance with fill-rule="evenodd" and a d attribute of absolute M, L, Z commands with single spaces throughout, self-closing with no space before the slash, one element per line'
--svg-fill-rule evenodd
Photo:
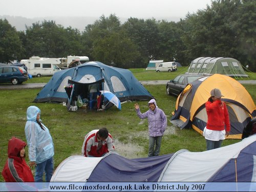
<path fill-rule="evenodd" d="M 54 155 L 52 136 L 48 128 L 41 123 L 45 128 L 45 130 L 42 130 L 36 122 L 38 113 L 40 113 L 39 108 L 29 106 L 25 125 L 25 134 L 29 146 L 29 160 L 35 161 L 37 164 L 50 159 Z"/>

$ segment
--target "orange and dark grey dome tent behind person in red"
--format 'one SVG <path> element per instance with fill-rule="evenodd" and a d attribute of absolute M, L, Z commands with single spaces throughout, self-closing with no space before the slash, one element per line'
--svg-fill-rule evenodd
<path fill-rule="evenodd" d="M 231 130 L 227 139 L 241 139 L 243 129 L 256 116 L 255 104 L 246 89 L 237 80 L 221 74 L 199 78 L 185 87 L 176 101 L 176 110 L 171 122 L 180 129 L 192 127 L 203 134 L 207 122 L 205 102 L 210 91 L 218 88 L 224 95 Z"/>

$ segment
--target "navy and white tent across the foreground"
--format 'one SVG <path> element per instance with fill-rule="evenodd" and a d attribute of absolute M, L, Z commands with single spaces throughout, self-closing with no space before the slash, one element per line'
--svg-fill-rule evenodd
<path fill-rule="evenodd" d="M 205 152 L 137 159 L 115 151 L 104 157 L 77 155 L 59 164 L 51 182 L 255 182 L 255 155 L 256 134 Z"/>

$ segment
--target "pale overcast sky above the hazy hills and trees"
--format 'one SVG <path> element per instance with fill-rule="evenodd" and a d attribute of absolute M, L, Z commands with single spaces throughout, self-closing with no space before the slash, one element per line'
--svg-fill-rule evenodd
<path fill-rule="evenodd" d="M 211 5 L 211 0 L 0 0 L 0 15 L 27 18 L 46 16 L 185 17 Z"/>

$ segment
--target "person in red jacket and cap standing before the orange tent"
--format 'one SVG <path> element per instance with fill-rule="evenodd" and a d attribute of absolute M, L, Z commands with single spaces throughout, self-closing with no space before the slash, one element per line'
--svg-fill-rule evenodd
<path fill-rule="evenodd" d="M 230 132 L 227 106 L 221 100 L 221 97 L 224 96 L 219 89 L 211 90 L 210 95 L 210 98 L 205 103 L 208 120 L 203 132 L 207 151 L 221 147 L 222 141 Z"/>

